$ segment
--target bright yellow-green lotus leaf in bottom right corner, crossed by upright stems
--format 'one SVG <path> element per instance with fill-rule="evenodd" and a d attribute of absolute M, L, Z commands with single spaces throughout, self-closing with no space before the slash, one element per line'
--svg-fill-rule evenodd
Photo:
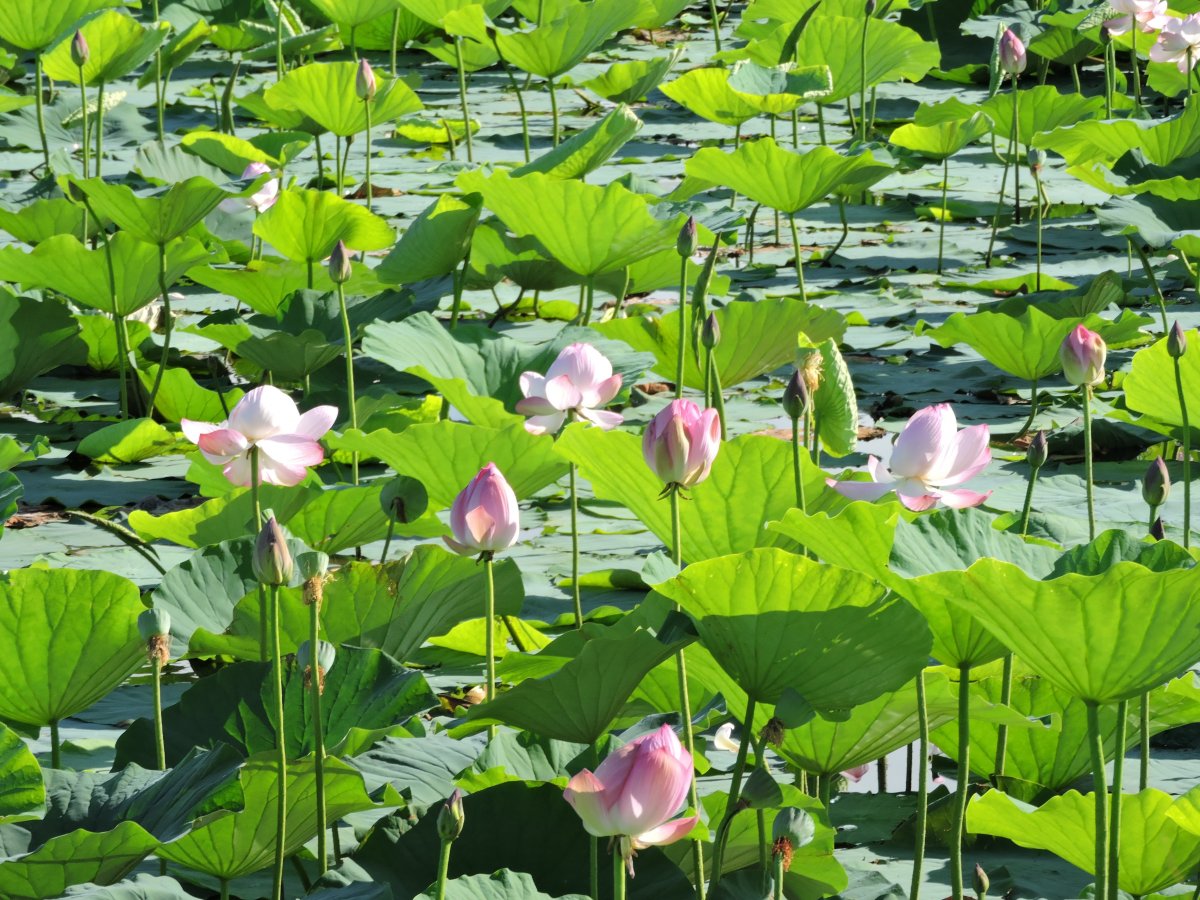
<path fill-rule="evenodd" d="M 1177 884 L 1200 863 L 1200 834 L 1181 824 L 1200 798 L 1193 788 L 1174 800 L 1162 791 L 1121 797 L 1120 870 L 1117 886 L 1145 896 Z M 995 834 L 1022 847 L 1049 850 L 1086 872 L 1096 874 L 1096 802 L 1092 794 L 1068 791 L 1034 809 L 1000 791 L 989 791 L 967 806 L 967 830 Z"/>

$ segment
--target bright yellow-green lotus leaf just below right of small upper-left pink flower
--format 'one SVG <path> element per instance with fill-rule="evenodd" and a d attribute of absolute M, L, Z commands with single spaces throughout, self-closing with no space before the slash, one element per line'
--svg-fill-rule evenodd
<path fill-rule="evenodd" d="M 324 191 L 284 191 L 254 220 L 254 234 L 293 262 L 310 266 L 334 252 L 383 250 L 396 239 L 391 226 L 364 206 Z"/>

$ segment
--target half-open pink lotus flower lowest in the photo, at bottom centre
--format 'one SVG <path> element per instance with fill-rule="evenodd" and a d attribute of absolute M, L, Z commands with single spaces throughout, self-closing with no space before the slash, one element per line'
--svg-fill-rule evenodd
<path fill-rule="evenodd" d="M 635 851 L 673 844 L 695 827 L 698 816 L 673 818 L 688 798 L 691 775 L 691 754 L 664 725 L 610 754 L 594 774 L 580 772 L 563 797 L 588 834 L 620 839 L 632 874 Z"/>

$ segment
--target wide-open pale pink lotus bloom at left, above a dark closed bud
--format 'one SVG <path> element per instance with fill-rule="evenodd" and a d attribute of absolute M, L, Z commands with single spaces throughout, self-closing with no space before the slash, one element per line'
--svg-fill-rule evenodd
<path fill-rule="evenodd" d="M 251 484 L 251 450 L 258 449 L 258 478 L 266 485 L 298 485 L 308 467 L 325 458 L 317 442 L 337 420 L 337 407 L 313 407 L 304 415 L 278 388 L 254 388 L 221 424 L 184 419 L 184 436 L 200 448 L 204 458 L 223 466 L 235 485 Z"/>

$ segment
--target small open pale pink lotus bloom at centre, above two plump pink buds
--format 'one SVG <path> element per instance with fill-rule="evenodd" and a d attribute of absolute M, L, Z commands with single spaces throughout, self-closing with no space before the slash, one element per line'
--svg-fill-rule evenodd
<path fill-rule="evenodd" d="M 556 433 L 568 413 L 601 428 L 616 428 L 623 416 L 600 407 L 612 402 L 619 390 L 620 376 L 612 373 L 608 358 L 592 344 L 572 343 L 563 348 L 545 376 L 521 374 L 524 398 L 517 401 L 517 412 L 530 416 L 526 421 L 530 434 Z"/>

